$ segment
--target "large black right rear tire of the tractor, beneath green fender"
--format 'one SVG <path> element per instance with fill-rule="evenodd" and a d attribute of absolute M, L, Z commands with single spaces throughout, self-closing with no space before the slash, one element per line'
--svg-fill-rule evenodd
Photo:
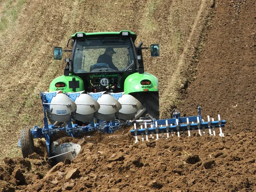
<path fill-rule="evenodd" d="M 149 116 L 151 119 L 159 119 L 159 93 L 158 91 L 131 93 L 146 111 L 140 117 Z"/>

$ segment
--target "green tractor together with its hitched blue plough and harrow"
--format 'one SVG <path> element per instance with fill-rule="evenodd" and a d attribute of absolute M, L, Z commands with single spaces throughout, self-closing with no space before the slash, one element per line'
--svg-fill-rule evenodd
<path fill-rule="evenodd" d="M 77 32 L 71 36 L 67 47 L 71 40 L 73 49 L 64 50 L 71 52 L 71 57 L 65 58 L 64 75 L 51 82 L 49 92 L 40 92 L 44 127 L 35 125 L 20 131 L 19 146 L 24 158 L 34 151 L 33 138 L 45 138 L 52 162 L 73 160 L 81 146 L 58 139 L 64 132 L 71 137 L 87 131 L 113 133 L 132 123 L 131 134 L 136 143 L 138 135 L 142 141 L 144 135 L 148 140 L 148 133 L 156 134 L 158 139 L 159 133 L 162 137 L 167 133 L 169 138 L 169 131 L 172 135 L 177 131 L 179 137 L 181 130 L 183 133 L 187 130 L 190 136 L 190 128 L 192 131 L 198 128 L 200 135 L 201 128 L 203 134 L 209 128 L 209 134 L 212 129 L 215 135 L 215 126 L 219 126 L 220 136 L 224 136 L 221 127 L 225 121 L 218 115 L 218 121 L 210 122 L 208 116 L 208 122 L 203 122 L 200 107 L 198 116 L 181 117 L 175 110 L 174 118 L 159 119 L 158 79 L 144 72 L 142 57 L 143 49 L 150 49 L 152 57 L 159 56 L 159 46 L 142 47 L 141 42 L 135 47 L 136 36 L 130 31 Z M 54 59 L 62 59 L 61 47 L 54 48 Z M 134 119 L 140 120 L 134 122 Z M 136 129 L 137 124 L 140 129 Z M 61 134 L 56 137 L 58 133 Z"/>

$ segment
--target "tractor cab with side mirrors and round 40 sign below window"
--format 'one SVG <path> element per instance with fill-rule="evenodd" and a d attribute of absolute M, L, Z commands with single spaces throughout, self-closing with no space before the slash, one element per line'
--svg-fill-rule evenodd
<path fill-rule="evenodd" d="M 135 47 L 136 37 L 130 31 L 75 33 L 70 38 L 73 49 L 64 50 L 72 52 L 66 58 L 64 76 L 71 73 L 81 78 L 87 92 L 123 92 L 129 75 L 144 73 L 142 49 L 150 49 L 152 57 L 159 56 L 157 44 Z M 55 47 L 54 59 L 62 59 L 61 55 L 61 47 Z"/>

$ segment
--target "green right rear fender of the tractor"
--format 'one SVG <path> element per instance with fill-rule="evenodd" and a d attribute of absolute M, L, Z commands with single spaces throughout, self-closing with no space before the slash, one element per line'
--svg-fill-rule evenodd
<path fill-rule="evenodd" d="M 141 81 L 149 80 L 150 84 L 141 84 Z M 158 91 L 158 79 L 149 73 L 133 73 L 124 82 L 125 94 L 134 92 Z"/>

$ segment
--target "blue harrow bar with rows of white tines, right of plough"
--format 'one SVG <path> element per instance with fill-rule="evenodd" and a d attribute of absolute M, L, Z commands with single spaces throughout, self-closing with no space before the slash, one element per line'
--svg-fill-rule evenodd
<path fill-rule="evenodd" d="M 152 119 L 152 120 L 139 120 L 137 123 L 134 123 L 134 129 L 131 130 L 131 134 L 135 136 L 135 143 L 138 142 L 138 136 L 142 137 L 142 141 L 145 139 L 148 141 L 149 134 L 151 137 L 154 138 L 154 134 L 156 134 L 156 140 L 159 139 L 159 134 L 161 137 L 164 137 L 166 134 L 167 139 L 169 138 L 169 133 L 174 136 L 174 132 L 177 133 L 177 136 L 180 137 L 180 132 L 182 131 L 183 134 L 186 134 L 187 131 L 188 137 L 191 136 L 191 131 L 193 134 L 195 131 L 198 131 L 198 134 L 201 136 L 206 134 L 206 130 L 209 130 L 209 135 L 215 136 L 215 127 L 219 128 L 219 136 L 224 137 L 222 133 L 222 127 L 226 124 L 225 120 L 221 120 L 220 115 L 218 115 L 218 121 L 210 121 L 210 117 L 207 116 L 208 122 L 204 122 L 204 119 L 201 117 L 201 107 L 198 107 L 198 116 L 188 116 L 188 117 L 181 117 L 180 113 L 175 110 L 172 113 L 173 118 L 171 119 Z M 140 125 L 137 128 L 137 124 Z"/>

